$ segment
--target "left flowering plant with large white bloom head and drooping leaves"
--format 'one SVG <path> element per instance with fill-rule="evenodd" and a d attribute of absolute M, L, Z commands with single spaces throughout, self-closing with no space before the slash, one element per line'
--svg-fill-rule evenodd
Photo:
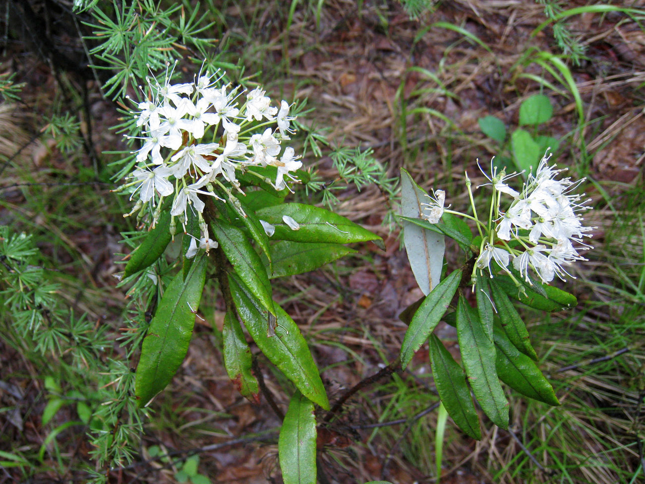
<path fill-rule="evenodd" d="M 233 87 L 223 74 L 199 73 L 192 83 L 171 78 L 172 70 L 162 82 L 148 79 L 146 99 L 129 115 L 133 132 L 127 137 L 139 147 L 119 188 L 134 203 L 126 216 L 136 214 L 149 228 L 126 263 L 123 283 L 141 288 L 152 279 L 161 294 L 142 328 L 135 398 L 139 407 L 148 406 L 173 378 L 206 279 L 216 279 L 226 305 L 226 371 L 241 394 L 259 401 L 261 375 L 253 370 L 244 327 L 297 388 L 281 430 L 281 465 L 286 482 L 294 472 L 311 481 L 313 405 L 330 405 L 299 328 L 273 300 L 270 279 L 321 267 L 354 252 L 346 244 L 380 237 L 323 208 L 285 202 L 292 185 L 308 179 L 300 156 L 287 146 L 295 117 L 286 101 L 273 103 L 259 87 Z M 181 239 L 181 252 L 168 267 L 164 252 L 172 239 Z M 286 465 L 294 452 L 297 465 Z"/>

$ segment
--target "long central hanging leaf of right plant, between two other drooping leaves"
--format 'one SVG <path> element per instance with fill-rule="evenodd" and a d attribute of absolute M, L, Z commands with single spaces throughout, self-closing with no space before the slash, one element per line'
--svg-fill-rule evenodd
<path fill-rule="evenodd" d="M 493 365 L 495 345 L 463 296 L 459 296 L 457 305 L 457 338 L 461 361 L 479 405 L 493 423 L 508 428 L 508 401 Z"/>

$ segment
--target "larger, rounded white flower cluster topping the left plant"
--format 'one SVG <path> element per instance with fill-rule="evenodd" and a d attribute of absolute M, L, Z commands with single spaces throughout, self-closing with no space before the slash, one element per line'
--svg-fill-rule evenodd
<path fill-rule="evenodd" d="M 188 210 L 196 213 L 203 237 L 195 246 L 208 247 L 200 195 L 217 197 L 218 188 L 221 194 L 230 195 L 232 188 L 241 192 L 236 171 L 253 166 L 277 168 L 271 181 L 276 190 L 286 187 L 285 177 L 297 181 L 291 172 L 302 162 L 293 148 L 281 146 L 293 134 L 290 121 L 295 117 L 289 116 L 286 101 L 279 108 L 272 106 L 261 88 L 248 92 L 241 104 L 243 92 L 222 85 L 223 76 L 206 72 L 194 83 L 173 85 L 170 77 L 166 74 L 164 85 L 146 79 L 152 100 L 139 103 L 135 113 L 143 134 L 137 138 L 143 144 L 134 152 L 137 167 L 128 177 L 134 181 L 126 184 L 134 187 L 130 199 L 139 197 L 130 214 L 148 202 L 161 207 L 164 197 L 173 196 L 173 219 L 177 217 L 185 228 Z"/>

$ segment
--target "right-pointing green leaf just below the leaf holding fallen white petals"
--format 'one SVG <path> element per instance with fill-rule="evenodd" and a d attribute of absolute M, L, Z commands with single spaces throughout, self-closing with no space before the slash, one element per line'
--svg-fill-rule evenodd
<path fill-rule="evenodd" d="M 354 252 L 353 248 L 340 244 L 277 241 L 271 246 L 273 272 L 269 277 L 303 274 Z"/>

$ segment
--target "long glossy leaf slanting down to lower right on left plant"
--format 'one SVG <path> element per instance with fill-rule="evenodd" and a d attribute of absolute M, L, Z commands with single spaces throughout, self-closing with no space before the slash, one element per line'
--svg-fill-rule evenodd
<path fill-rule="evenodd" d="M 276 304 L 275 336 L 267 336 L 269 314 L 266 308 L 257 301 L 235 274 L 228 274 L 228 282 L 237 313 L 244 321 L 244 326 L 257 347 L 288 379 L 293 381 L 295 387 L 304 396 L 329 410 L 329 401 L 318 368 L 293 319 Z"/>

